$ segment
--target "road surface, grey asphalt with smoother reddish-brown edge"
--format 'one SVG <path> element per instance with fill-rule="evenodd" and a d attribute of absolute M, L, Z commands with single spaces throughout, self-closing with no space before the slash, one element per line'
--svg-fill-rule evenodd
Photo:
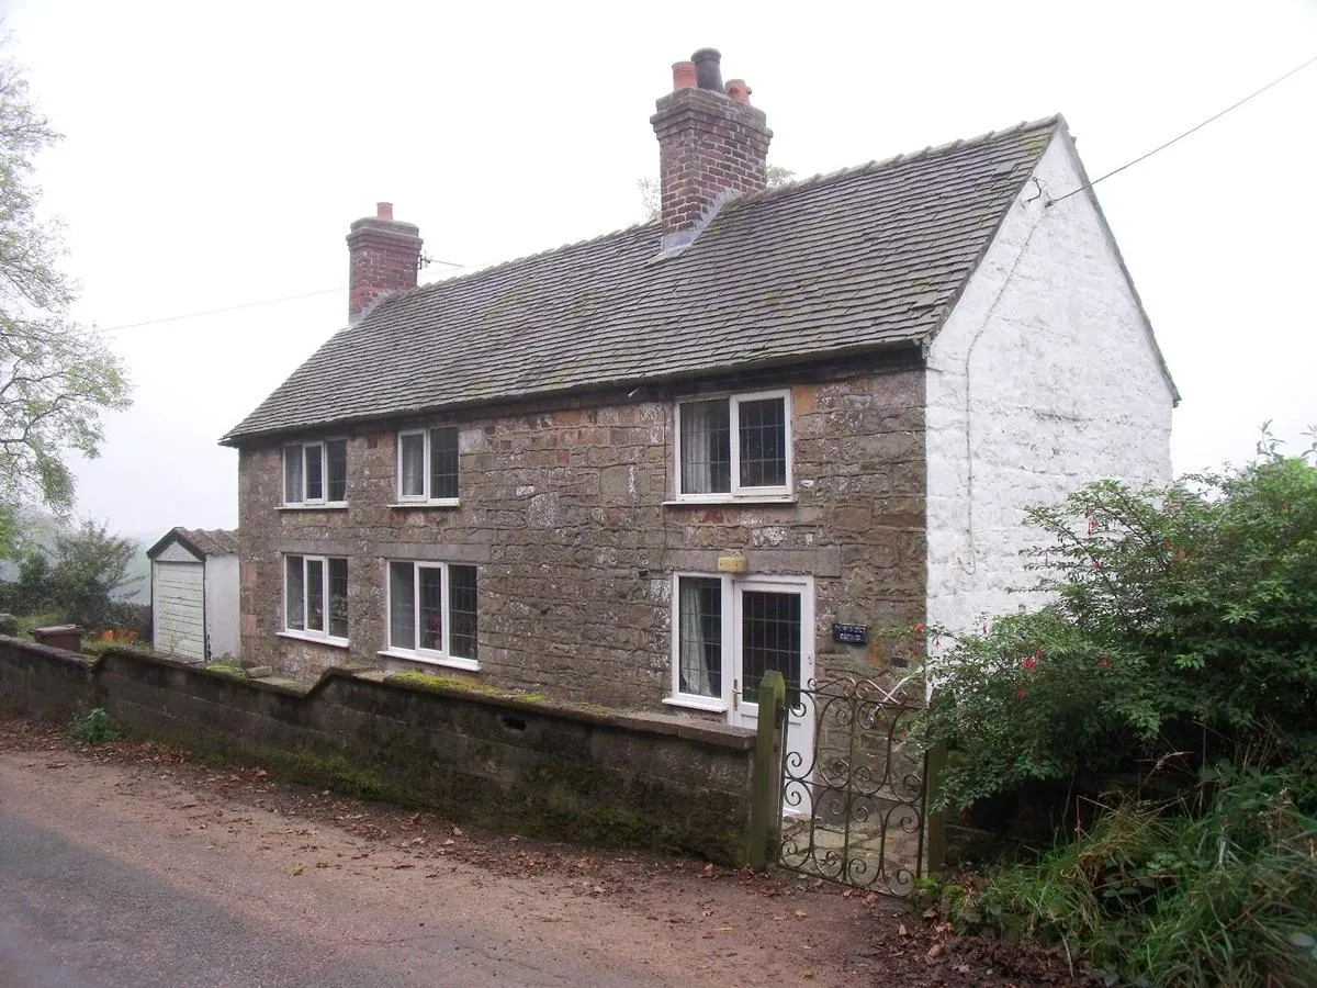
<path fill-rule="evenodd" d="M 554 889 L 371 871 L 349 835 L 151 781 L 0 755 L 0 988 L 677 983 Z"/>

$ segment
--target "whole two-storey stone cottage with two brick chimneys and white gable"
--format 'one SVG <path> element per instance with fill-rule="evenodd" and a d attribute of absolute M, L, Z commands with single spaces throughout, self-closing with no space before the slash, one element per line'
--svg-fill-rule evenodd
<path fill-rule="evenodd" d="M 745 84 L 673 75 L 656 221 L 424 287 L 352 225 L 346 328 L 223 440 L 246 656 L 749 723 L 766 669 L 1014 609 L 1026 505 L 1168 477 L 1062 117 L 765 190 Z"/>

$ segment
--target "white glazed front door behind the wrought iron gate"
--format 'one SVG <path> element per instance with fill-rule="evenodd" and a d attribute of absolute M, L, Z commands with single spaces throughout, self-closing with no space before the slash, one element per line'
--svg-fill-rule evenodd
<path fill-rule="evenodd" d="M 814 586 L 807 578 L 760 577 L 732 581 L 730 722 L 759 723 L 759 686 L 776 669 L 786 680 L 786 757 L 792 775 L 807 771 L 814 752 L 813 710 L 798 706 L 798 690 L 814 678 Z M 788 810 L 790 808 L 788 806 Z"/>

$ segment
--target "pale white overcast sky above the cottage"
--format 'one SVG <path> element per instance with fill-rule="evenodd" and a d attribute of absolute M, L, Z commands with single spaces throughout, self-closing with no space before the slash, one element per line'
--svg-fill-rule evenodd
<path fill-rule="evenodd" d="M 798 178 L 1058 111 L 1096 178 L 1317 53 L 1317 0 L 0 11 L 66 134 L 38 180 L 76 315 L 137 386 L 79 511 L 142 535 L 236 524 L 216 440 L 344 323 L 352 220 L 391 200 L 469 267 L 635 223 L 655 99 L 697 47 Z M 1097 187 L 1183 395 L 1177 472 L 1247 458 L 1264 419 L 1293 444 L 1317 423 L 1314 124 L 1317 66 Z"/>

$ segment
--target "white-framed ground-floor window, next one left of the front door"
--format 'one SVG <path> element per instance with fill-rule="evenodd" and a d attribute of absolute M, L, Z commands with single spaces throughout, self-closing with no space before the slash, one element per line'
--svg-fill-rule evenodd
<path fill-rule="evenodd" d="M 477 669 L 475 566 L 389 564 L 389 655 Z"/>

